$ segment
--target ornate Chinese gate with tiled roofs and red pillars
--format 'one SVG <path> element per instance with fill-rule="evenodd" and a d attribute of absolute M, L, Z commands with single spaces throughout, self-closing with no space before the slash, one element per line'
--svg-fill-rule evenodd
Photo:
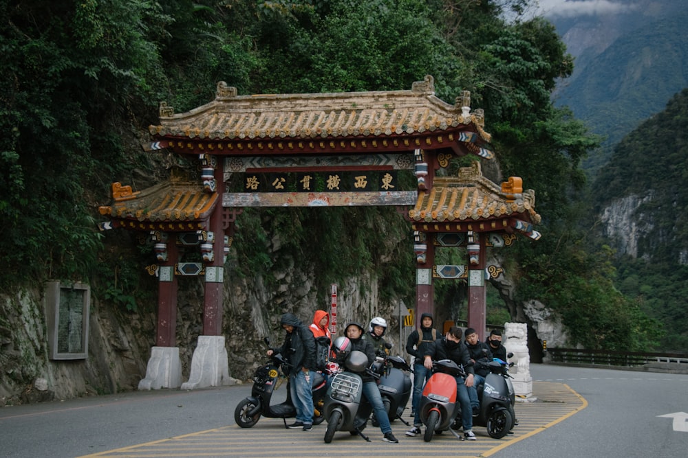
<path fill-rule="evenodd" d="M 149 231 L 155 241 L 160 287 L 153 354 L 163 356 L 151 355 L 140 388 L 178 386 L 170 380 L 178 352 L 169 349 L 175 348 L 177 279 L 183 275 L 204 275 L 206 286 L 203 335 L 182 388 L 219 385 L 226 376 L 222 282 L 242 207 L 410 207 L 416 317 L 433 312 L 433 278 L 466 278 L 469 325 L 484 330 L 486 247 L 510 244 L 515 231 L 538 238 L 531 225 L 539 215 L 534 192 L 524 192 L 517 177 L 497 186 L 484 179 L 479 163 L 459 176 L 436 177 L 452 157 L 493 159 L 483 126 L 484 114 L 471 112 L 468 92 L 447 104 L 434 95 L 431 76 L 411 91 L 359 93 L 237 95 L 219 82 L 213 102 L 187 113 L 175 115 L 161 104 L 160 125 L 150 127 L 151 150 L 196 160 L 200 179 L 173 176 L 140 193 L 115 183 L 114 204 L 101 207 L 111 226 Z M 416 176 L 412 190 L 399 187 L 405 170 Z M 226 192 L 233 176 L 241 176 L 241 192 Z M 183 244 L 197 244 L 203 262 L 179 262 Z M 434 266 L 436 246 L 466 247 L 467 268 Z M 154 373 L 151 367 L 163 369 Z"/>

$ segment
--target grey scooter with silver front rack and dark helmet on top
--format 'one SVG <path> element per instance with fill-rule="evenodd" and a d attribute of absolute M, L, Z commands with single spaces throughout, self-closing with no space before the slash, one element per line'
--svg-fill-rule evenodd
<path fill-rule="evenodd" d="M 351 435 L 359 435 L 370 442 L 363 434 L 363 429 L 373 408 L 363 396 L 363 379 L 358 375 L 363 371 L 372 371 L 367 365 L 365 353 L 350 352 L 344 359 L 343 370 L 330 380 L 323 407 L 327 420 L 325 444 L 332 442 L 336 431 L 349 431 Z"/>

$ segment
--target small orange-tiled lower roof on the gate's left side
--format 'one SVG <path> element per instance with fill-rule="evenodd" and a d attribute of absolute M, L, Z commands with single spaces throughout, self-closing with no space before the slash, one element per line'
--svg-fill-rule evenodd
<path fill-rule="evenodd" d="M 140 192 L 112 184 L 113 205 L 99 207 L 118 226 L 129 229 L 191 231 L 203 229 L 219 201 L 197 183 L 166 181 Z"/>

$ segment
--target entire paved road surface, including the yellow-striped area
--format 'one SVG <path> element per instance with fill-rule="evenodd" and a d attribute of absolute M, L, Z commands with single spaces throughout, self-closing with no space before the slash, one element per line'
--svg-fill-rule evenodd
<path fill-rule="evenodd" d="M 144 391 L 0 409 L 0 457 L 686 457 L 688 376 L 532 365 L 535 402 L 519 402 L 515 434 L 496 440 L 475 427 L 475 442 L 451 433 L 424 442 L 406 437 L 372 442 L 325 424 L 286 430 L 261 418 L 238 428 L 233 412 L 250 384 L 197 391 Z M 283 391 L 283 389 L 281 390 Z M 409 417 L 406 418 L 410 420 Z"/>

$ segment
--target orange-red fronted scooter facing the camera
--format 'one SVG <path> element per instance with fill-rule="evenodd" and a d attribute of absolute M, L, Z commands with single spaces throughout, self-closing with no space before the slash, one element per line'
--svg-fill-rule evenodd
<path fill-rule="evenodd" d="M 456 397 L 456 377 L 464 375 L 463 369 L 452 360 L 433 362 L 432 375 L 425 383 L 418 405 L 420 420 L 425 425 L 425 442 L 432 440 L 433 433 L 449 428 L 460 413 L 461 407 Z M 459 437 L 454 431 L 452 433 Z"/>

